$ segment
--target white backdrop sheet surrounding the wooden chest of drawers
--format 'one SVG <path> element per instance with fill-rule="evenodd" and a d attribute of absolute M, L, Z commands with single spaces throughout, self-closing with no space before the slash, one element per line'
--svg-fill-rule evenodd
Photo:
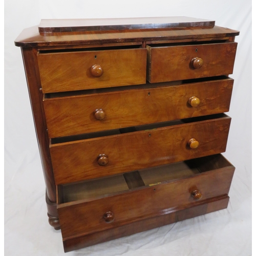
<path fill-rule="evenodd" d="M 66 255 L 251 255 L 251 1 L 5 2 L 5 254 L 64 255 L 48 224 L 42 174 L 20 49 L 14 40 L 42 18 L 189 16 L 240 31 L 232 117 L 224 156 L 236 166 L 228 208 Z"/>

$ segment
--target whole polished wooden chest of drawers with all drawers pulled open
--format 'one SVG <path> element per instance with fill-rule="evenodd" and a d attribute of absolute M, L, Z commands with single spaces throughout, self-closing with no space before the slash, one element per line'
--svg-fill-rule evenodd
<path fill-rule="evenodd" d="M 227 207 L 237 35 L 188 17 L 42 20 L 19 35 L 65 251 Z"/>

